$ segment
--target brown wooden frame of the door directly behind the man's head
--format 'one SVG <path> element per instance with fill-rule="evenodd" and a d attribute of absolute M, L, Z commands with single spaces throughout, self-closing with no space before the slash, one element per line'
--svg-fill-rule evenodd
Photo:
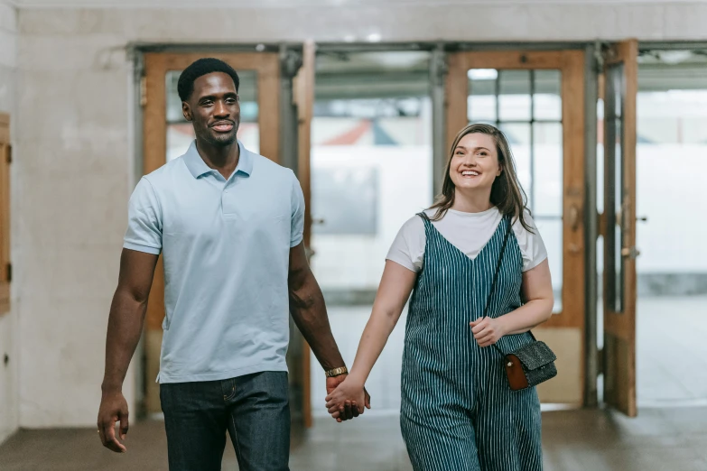
<path fill-rule="evenodd" d="M 257 72 L 258 127 L 260 153 L 280 162 L 280 59 L 277 52 L 145 52 L 144 76 L 141 81 L 143 107 L 143 172 L 148 174 L 162 167 L 167 156 L 167 95 L 166 74 L 186 69 L 203 57 L 223 60 L 236 70 Z M 186 149 L 184 149 L 186 152 Z M 153 286 L 147 303 L 144 324 L 144 409 L 147 413 L 161 411 L 159 389 L 154 386 L 158 371 L 151 363 L 162 343 L 164 318 L 164 268 L 162 256 L 154 272 Z M 159 358 L 159 356 L 158 356 Z"/>

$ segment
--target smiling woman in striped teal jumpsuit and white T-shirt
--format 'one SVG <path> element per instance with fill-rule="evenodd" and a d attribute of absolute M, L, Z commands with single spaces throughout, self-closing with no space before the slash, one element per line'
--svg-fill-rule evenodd
<path fill-rule="evenodd" d="M 533 341 L 528 330 L 552 314 L 550 269 L 506 137 L 491 125 L 461 130 L 441 197 L 395 238 L 351 372 L 327 396 L 335 419 L 351 404 L 363 411 L 364 383 L 413 290 L 400 425 L 414 469 L 541 469 L 537 392 L 511 391 L 490 346 Z"/>

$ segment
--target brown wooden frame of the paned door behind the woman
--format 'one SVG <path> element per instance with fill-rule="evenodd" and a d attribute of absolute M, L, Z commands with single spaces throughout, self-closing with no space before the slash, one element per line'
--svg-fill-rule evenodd
<path fill-rule="evenodd" d="M 456 134 L 467 121 L 469 69 L 557 69 L 562 73 L 563 115 L 563 310 L 543 328 L 581 330 L 581 403 L 585 402 L 587 352 L 585 339 L 585 52 L 563 51 L 467 51 L 449 56 L 445 107 L 446 143 L 451 148 Z M 461 73 L 463 71 L 463 73 Z M 571 222 L 571 214 L 574 219 Z M 566 216 L 566 217 L 565 217 Z M 572 261 L 572 263 L 567 263 Z"/>

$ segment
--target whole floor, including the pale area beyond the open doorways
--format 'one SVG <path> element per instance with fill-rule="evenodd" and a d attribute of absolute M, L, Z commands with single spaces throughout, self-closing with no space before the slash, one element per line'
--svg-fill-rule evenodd
<path fill-rule="evenodd" d="M 330 309 L 349 365 L 369 312 Z M 405 315 L 369 378 L 375 409 L 337 424 L 315 408 L 315 426 L 293 431 L 293 471 L 412 469 L 396 415 L 404 325 Z M 639 300 L 637 354 L 637 419 L 600 410 L 544 412 L 545 470 L 707 471 L 707 299 Z M 318 366 L 312 372 L 313 404 L 323 404 L 323 374 Z M 666 407 L 676 403 L 689 407 Z M 94 429 L 23 430 L 0 447 L 0 470 L 167 469 L 162 422 L 131 426 L 127 447 L 126 455 L 107 451 Z M 228 445 L 224 469 L 237 469 Z"/>

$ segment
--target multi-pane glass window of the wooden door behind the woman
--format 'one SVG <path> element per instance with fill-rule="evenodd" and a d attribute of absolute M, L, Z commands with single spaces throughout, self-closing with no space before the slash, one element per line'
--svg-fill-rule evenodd
<path fill-rule="evenodd" d="M 470 69 L 470 123 L 496 125 L 507 137 L 527 206 L 547 247 L 562 310 L 563 122 L 560 70 Z"/>

